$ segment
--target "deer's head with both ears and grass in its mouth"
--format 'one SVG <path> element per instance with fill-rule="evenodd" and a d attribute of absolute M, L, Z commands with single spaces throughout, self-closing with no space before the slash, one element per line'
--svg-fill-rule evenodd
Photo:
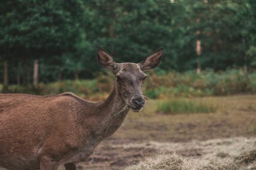
<path fill-rule="evenodd" d="M 111 70 L 116 76 L 116 88 L 126 105 L 139 112 L 145 104 L 142 84 L 146 79 L 143 71 L 154 69 L 163 56 L 163 47 L 153 52 L 140 63 L 117 63 L 113 57 L 98 47 L 97 60 L 101 67 Z"/>

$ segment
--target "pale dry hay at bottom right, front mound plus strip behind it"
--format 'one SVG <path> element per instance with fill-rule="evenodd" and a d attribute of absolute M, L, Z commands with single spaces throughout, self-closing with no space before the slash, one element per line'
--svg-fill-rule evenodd
<path fill-rule="evenodd" d="M 203 142 L 178 143 L 179 149 L 201 149 L 200 156 L 181 156 L 176 153 L 158 155 L 147 158 L 137 165 L 127 167 L 125 170 L 252 170 L 256 169 L 255 139 L 233 138 L 213 139 Z M 159 143 L 160 144 L 160 143 Z M 167 143 L 162 143 L 162 148 L 167 148 Z M 161 144 L 160 144 L 161 145 Z M 190 145 L 190 146 L 189 146 Z M 155 145 L 155 147 L 160 147 Z M 230 154 L 227 154 L 229 151 Z M 216 152 L 219 152 L 216 154 Z"/>

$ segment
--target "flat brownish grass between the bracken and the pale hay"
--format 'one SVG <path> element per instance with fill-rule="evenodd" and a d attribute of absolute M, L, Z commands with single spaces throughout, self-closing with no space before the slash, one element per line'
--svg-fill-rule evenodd
<path fill-rule="evenodd" d="M 142 113 L 131 113 L 116 139 L 159 141 L 206 140 L 256 134 L 256 95 L 195 98 L 216 105 L 216 113 L 162 114 L 156 107 L 164 101 L 148 101 Z"/>

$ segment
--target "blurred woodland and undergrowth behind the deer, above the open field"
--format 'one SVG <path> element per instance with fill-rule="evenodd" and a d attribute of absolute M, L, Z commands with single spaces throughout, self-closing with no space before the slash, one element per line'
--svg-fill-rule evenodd
<path fill-rule="evenodd" d="M 2 92 L 109 92 L 97 45 L 117 62 L 140 62 L 163 46 L 148 73 L 157 79 L 145 87 L 151 98 L 256 91 L 252 0 L 20 0 L 1 2 L 0 11 Z"/>

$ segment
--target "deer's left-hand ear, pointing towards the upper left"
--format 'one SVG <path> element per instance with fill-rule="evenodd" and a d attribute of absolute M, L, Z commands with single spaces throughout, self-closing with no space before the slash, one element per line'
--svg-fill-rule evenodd
<path fill-rule="evenodd" d="M 98 46 L 97 49 L 97 60 L 102 68 L 114 72 L 117 63 L 114 61 L 113 57 L 100 46 Z"/>

